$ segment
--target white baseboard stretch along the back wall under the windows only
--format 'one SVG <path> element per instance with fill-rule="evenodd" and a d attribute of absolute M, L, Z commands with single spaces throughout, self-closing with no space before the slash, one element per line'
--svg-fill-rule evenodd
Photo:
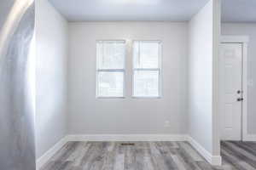
<path fill-rule="evenodd" d="M 185 134 L 71 134 L 67 141 L 186 141 Z"/>

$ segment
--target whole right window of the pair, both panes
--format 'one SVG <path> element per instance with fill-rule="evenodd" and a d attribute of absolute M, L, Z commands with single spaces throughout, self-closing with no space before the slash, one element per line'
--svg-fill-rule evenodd
<path fill-rule="evenodd" d="M 133 97 L 160 97 L 160 41 L 133 42 Z"/>

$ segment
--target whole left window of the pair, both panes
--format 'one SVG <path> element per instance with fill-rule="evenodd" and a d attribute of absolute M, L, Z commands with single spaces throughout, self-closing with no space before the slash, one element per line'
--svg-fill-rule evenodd
<path fill-rule="evenodd" d="M 96 59 L 96 96 L 124 97 L 125 41 L 97 41 Z"/>

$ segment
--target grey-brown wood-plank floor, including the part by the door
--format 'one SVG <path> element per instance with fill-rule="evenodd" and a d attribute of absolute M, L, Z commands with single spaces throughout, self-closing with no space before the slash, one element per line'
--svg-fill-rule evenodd
<path fill-rule="evenodd" d="M 212 167 L 187 142 L 69 142 L 41 170 L 256 169 L 256 143 L 223 142 L 222 156 Z"/>

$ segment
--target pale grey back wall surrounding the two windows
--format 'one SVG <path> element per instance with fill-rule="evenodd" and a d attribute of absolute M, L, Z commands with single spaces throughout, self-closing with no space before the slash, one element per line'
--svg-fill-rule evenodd
<path fill-rule="evenodd" d="M 84 22 L 69 26 L 68 133 L 187 133 L 187 23 Z M 126 98 L 96 99 L 96 40 L 161 40 L 163 98 L 131 99 L 131 51 Z M 164 123 L 170 121 L 170 127 Z"/>

